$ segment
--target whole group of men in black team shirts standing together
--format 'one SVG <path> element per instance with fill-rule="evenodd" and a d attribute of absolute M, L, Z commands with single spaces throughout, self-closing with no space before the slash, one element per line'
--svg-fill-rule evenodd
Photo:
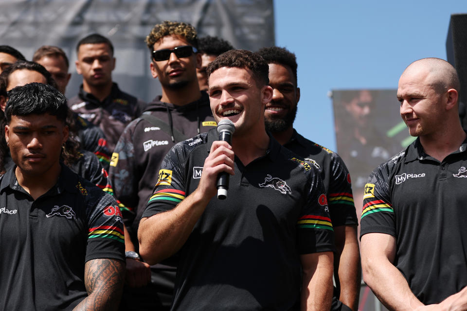
<path fill-rule="evenodd" d="M 361 269 L 350 174 L 293 127 L 293 52 L 235 50 L 174 21 L 145 42 L 162 86 L 148 104 L 113 82 L 103 35 L 78 42 L 69 100 L 62 49 L 27 61 L 0 46 L 0 310 L 357 311 L 361 271 L 391 310 L 467 310 L 467 135 L 449 63 L 415 61 L 399 80 L 418 138 L 368 179 Z"/>

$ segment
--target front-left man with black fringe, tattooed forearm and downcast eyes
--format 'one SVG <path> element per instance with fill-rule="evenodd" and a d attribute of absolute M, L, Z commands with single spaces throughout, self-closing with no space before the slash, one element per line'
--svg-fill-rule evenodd
<path fill-rule="evenodd" d="M 0 178 L 1 310 L 116 310 L 125 271 L 115 200 L 59 161 L 66 98 L 32 83 L 9 92 Z"/>

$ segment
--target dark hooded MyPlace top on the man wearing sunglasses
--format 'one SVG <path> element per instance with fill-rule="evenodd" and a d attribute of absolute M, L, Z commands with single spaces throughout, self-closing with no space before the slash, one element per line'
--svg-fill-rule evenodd
<path fill-rule="evenodd" d="M 201 94 L 199 100 L 183 106 L 163 103 L 159 98 L 148 104 L 144 114 L 159 118 L 187 138 L 194 137 L 217 125 L 207 93 Z M 128 124 L 112 154 L 110 184 L 121 203 L 125 225 L 134 233 L 135 244 L 138 244 L 136 232 L 141 215 L 158 181 L 155 172 L 159 171 L 164 156 L 177 142 L 160 127 L 137 118 Z"/>

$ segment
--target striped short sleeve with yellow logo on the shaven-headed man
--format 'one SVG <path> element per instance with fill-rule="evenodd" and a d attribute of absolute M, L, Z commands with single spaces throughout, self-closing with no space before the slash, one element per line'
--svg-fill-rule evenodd
<path fill-rule="evenodd" d="M 378 167 L 370 175 L 363 191 L 360 239 L 367 233 L 386 233 L 396 236 L 389 177 L 384 166 Z"/>

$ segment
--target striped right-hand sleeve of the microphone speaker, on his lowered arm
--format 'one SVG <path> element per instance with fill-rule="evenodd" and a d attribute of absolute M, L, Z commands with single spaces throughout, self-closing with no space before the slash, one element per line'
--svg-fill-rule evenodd
<path fill-rule="evenodd" d="M 315 172 L 308 182 L 308 196 L 298 219 L 298 252 L 310 254 L 334 250 L 331 223 L 323 182 Z"/>

